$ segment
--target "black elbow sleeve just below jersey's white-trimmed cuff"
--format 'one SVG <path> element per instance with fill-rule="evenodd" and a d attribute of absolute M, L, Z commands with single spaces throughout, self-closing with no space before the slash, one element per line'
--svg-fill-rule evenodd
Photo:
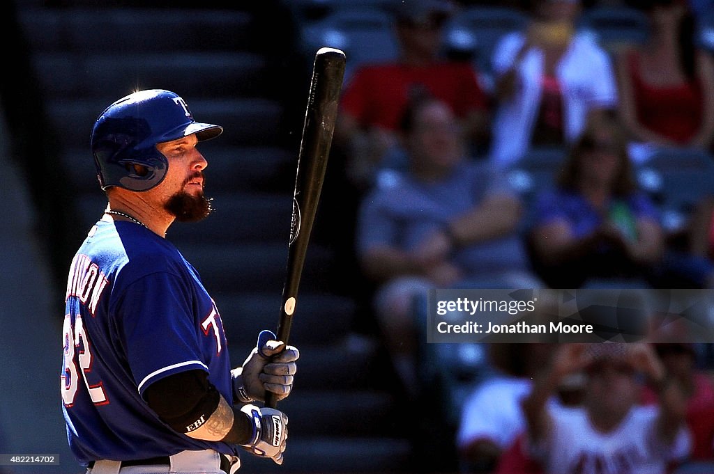
<path fill-rule="evenodd" d="M 152 383 L 144 399 L 161 421 L 179 433 L 191 431 L 191 425 L 216 411 L 221 394 L 201 370 L 183 371 Z"/>

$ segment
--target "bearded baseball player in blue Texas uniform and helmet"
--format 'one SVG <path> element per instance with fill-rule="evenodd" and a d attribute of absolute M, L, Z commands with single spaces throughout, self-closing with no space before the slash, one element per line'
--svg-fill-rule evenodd
<path fill-rule="evenodd" d="M 234 473 L 238 452 L 283 461 L 288 418 L 253 404 L 293 386 L 298 350 L 263 331 L 231 370 L 216 304 L 164 236 L 211 211 L 196 145 L 220 135 L 175 93 L 111 104 L 91 134 L 109 200 L 69 270 L 61 396 L 91 474 Z"/>

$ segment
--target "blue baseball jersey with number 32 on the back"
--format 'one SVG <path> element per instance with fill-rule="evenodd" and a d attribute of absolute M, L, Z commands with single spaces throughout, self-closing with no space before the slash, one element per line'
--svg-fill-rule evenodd
<path fill-rule="evenodd" d="M 221 317 L 171 242 L 131 222 L 97 222 L 72 261 L 63 332 L 63 411 L 81 464 L 206 448 L 238 455 L 174 431 L 142 398 L 154 381 L 200 369 L 233 403 Z"/>

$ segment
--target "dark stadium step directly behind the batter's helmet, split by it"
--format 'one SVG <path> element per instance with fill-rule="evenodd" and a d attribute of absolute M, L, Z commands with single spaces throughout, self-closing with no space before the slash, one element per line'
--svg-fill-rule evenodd
<path fill-rule="evenodd" d="M 223 145 L 268 146 L 283 141 L 284 109 L 278 101 L 252 97 L 193 99 L 190 91 L 182 95 L 194 117 L 201 122 L 223 125 L 224 130 L 230 131 L 221 135 Z M 120 97 L 115 96 L 111 100 Z M 47 113 L 59 145 L 64 149 L 89 146 L 94 121 L 109 103 L 106 98 L 49 98 Z"/>

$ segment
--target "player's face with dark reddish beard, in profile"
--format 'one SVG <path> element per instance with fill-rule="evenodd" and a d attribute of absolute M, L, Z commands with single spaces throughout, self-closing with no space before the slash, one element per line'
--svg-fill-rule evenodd
<path fill-rule="evenodd" d="M 208 162 L 196 148 L 197 143 L 196 135 L 188 135 L 156 145 L 156 149 L 169 160 L 166 177 L 156 190 L 161 193 L 164 209 L 183 222 L 201 220 L 211 212 L 203 195 L 203 170 Z"/>

